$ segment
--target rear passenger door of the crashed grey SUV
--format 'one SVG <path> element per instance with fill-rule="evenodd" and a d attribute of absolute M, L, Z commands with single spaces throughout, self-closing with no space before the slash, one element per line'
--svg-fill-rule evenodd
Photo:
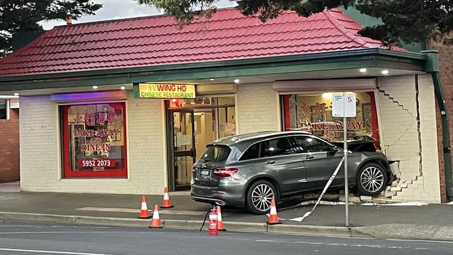
<path fill-rule="evenodd" d="M 264 171 L 275 178 L 283 193 L 300 189 L 307 180 L 307 171 L 299 155 L 295 154 L 288 137 L 261 141 L 259 158 Z"/>

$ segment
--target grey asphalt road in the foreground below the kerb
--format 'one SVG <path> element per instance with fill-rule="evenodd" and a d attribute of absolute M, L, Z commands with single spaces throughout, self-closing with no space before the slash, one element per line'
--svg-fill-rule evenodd
<path fill-rule="evenodd" d="M 453 242 L 0 222 L 0 254 L 452 254 Z"/>

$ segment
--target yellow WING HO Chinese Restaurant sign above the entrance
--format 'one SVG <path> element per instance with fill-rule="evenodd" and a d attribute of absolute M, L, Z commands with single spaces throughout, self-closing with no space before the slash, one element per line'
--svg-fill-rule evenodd
<path fill-rule="evenodd" d="M 141 83 L 139 98 L 195 98 L 195 85 Z"/>

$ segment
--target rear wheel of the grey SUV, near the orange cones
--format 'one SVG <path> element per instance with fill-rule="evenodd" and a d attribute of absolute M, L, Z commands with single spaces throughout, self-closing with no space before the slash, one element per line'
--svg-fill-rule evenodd
<path fill-rule="evenodd" d="M 249 212 L 263 215 L 270 211 L 270 201 L 278 197 L 277 189 L 267 180 L 257 180 L 247 190 L 245 205 Z"/>

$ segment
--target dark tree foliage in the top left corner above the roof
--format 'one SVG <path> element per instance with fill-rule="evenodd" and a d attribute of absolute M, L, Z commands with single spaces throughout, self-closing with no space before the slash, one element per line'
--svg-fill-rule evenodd
<path fill-rule="evenodd" d="M 77 20 L 82 15 L 93 15 L 101 4 L 91 0 L 0 0 L 0 54 L 10 52 L 13 34 L 42 31 L 43 20 Z"/>

